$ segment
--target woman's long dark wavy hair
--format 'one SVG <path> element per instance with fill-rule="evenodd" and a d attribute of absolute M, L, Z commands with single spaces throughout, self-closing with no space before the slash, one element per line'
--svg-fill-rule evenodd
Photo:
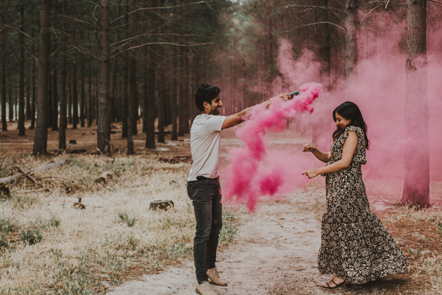
<path fill-rule="evenodd" d="M 336 109 L 333 111 L 333 120 L 336 122 L 336 113 L 341 115 L 343 118 L 350 120 L 350 123 L 348 126 L 357 126 L 364 132 L 364 138 L 365 138 L 365 148 L 368 149 L 370 147 L 370 142 L 367 138 L 367 124 L 365 124 L 364 119 L 362 118 L 362 114 L 360 113 L 360 110 L 358 106 L 351 101 L 346 101 L 342 104 L 340 104 Z M 337 127 L 336 130 L 333 132 L 333 140 L 341 136 L 341 134 L 345 131 L 345 128 Z"/>

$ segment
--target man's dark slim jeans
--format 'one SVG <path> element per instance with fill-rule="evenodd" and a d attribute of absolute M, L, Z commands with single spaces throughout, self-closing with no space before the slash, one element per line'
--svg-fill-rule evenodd
<path fill-rule="evenodd" d="M 187 194 L 195 211 L 193 261 L 196 279 L 201 283 L 208 281 L 207 269 L 214 268 L 217 261 L 218 237 L 222 227 L 220 179 L 204 177 L 201 180 L 188 181 Z"/>

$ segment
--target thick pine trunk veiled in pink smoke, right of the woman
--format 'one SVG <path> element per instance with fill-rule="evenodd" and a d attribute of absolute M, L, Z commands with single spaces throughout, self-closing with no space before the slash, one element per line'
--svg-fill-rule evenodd
<path fill-rule="evenodd" d="M 407 0 L 407 92 L 404 191 L 400 203 L 430 207 L 430 153 L 428 147 L 426 1 Z"/>

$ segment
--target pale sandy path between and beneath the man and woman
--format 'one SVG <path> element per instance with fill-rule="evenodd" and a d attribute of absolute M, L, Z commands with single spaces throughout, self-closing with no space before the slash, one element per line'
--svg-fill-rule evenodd
<path fill-rule="evenodd" d="M 240 143 L 233 131 L 223 131 L 223 146 Z M 299 139 L 298 139 L 299 140 Z M 303 142 L 303 141 L 301 141 Z M 296 144 L 301 144 L 301 142 Z M 225 150 L 225 148 L 221 148 Z M 221 153 L 225 165 L 226 152 Z M 255 213 L 238 210 L 239 234 L 234 243 L 219 251 L 217 267 L 229 286 L 213 285 L 219 295 L 301 294 L 402 294 L 395 279 L 365 285 L 344 285 L 333 291 L 321 287 L 331 276 L 320 274 L 317 254 L 320 219 L 324 210 L 324 187 L 299 191 L 283 201 L 267 201 Z M 109 295 L 193 295 L 196 277 L 193 260 L 182 259 L 163 272 L 144 275 L 111 288 Z M 397 287 L 395 287 L 397 286 Z"/>

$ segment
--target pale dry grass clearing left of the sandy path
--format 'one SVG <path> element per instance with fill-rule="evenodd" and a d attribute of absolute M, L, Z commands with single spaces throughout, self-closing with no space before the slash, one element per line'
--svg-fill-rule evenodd
<path fill-rule="evenodd" d="M 61 157 L 67 164 L 36 173 L 47 177 L 40 184 L 21 178 L 0 202 L 0 295 L 105 294 L 109 284 L 191 256 L 189 164 L 161 163 L 155 155 L 121 156 L 113 164 L 101 156 Z M 46 162 L 4 159 L 2 167 Z M 106 170 L 111 180 L 97 182 Z M 73 207 L 80 197 L 83 210 Z M 172 200 L 174 208 L 152 211 L 154 200 Z M 221 243 L 236 233 L 233 215 L 226 210 L 223 217 Z"/>

